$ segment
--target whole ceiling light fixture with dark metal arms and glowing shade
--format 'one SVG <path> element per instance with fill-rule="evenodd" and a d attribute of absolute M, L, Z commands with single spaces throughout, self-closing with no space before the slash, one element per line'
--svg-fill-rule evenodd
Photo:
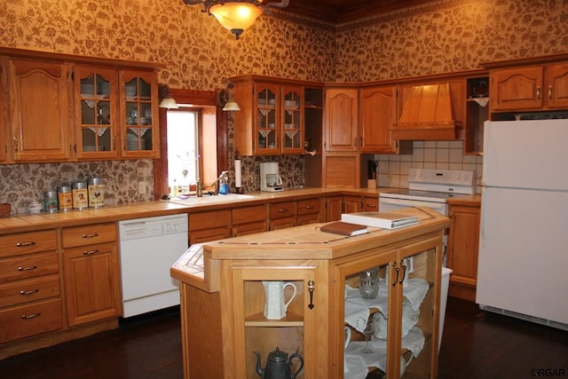
<path fill-rule="evenodd" d="M 239 39 L 242 32 L 254 24 L 261 14 L 271 14 L 270 7 L 285 8 L 289 0 L 262 4 L 263 0 L 184 0 L 186 5 L 203 4 L 201 12 L 215 16 L 217 21 Z"/>

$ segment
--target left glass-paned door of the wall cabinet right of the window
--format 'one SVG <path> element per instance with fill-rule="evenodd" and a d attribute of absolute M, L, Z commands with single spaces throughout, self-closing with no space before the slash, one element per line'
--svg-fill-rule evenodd
<path fill-rule="evenodd" d="M 280 152 L 280 87 L 256 83 L 256 132 L 254 146 L 257 154 Z"/>

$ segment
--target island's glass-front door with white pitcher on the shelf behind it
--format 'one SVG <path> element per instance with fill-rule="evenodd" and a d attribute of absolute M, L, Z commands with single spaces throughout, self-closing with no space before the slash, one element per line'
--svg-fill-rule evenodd
<path fill-rule="evenodd" d="M 315 315 L 319 304 L 314 292 L 319 288 L 316 270 L 299 265 L 279 265 L 275 270 L 247 265 L 231 270 L 230 277 L 224 276 L 224 280 L 232 281 L 233 288 L 232 297 L 221 298 L 221 302 L 233 304 L 233 312 L 223 322 L 234 328 L 230 354 L 234 377 L 255 379 L 264 375 L 271 354 L 280 361 L 287 356 L 290 373 L 297 379 L 315 377 L 319 362 Z"/>

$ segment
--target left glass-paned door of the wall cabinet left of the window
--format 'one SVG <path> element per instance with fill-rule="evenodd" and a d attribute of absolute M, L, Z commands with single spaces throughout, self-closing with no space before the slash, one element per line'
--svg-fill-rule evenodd
<path fill-rule="evenodd" d="M 78 158 L 117 157 L 119 116 L 117 71 L 101 67 L 75 67 L 75 124 Z"/>

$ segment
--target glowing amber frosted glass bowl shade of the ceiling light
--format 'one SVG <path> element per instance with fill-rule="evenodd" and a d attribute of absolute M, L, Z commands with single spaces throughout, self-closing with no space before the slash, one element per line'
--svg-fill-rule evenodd
<path fill-rule="evenodd" d="M 263 9 L 249 3 L 225 3 L 213 5 L 209 12 L 233 34 L 233 30 L 246 30 L 263 13 Z"/>

